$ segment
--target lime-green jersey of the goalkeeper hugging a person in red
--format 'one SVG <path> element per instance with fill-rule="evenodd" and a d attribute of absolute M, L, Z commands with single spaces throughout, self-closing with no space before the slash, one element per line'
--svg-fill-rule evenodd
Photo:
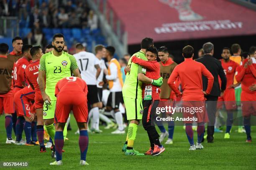
<path fill-rule="evenodd" d="M 138 57 L 147 61 L 144 52 L 139 51 L 132 55 L 132 57 Z M 131 58 L 132 58 L 131 57 Z M 138 73 L 146 74 L 146 69 L 141 65 L 135 64 L 130 60 L 128 66 L 131 68 L 130 72 L 127 72 L 125 82 L 123 84 L 123 97 L 129 97 L 133 99 L 142 99 L 142 82 L 138 80 Z"/>

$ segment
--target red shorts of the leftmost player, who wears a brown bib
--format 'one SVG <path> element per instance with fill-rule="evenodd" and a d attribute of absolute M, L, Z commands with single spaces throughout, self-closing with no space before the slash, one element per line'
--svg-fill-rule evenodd
<path fill-rule="evenodd" d="M 13 96 L 11 97 L 0 97 L 0 115 L 5 113 L 14 113 L 14 102 Z"/>

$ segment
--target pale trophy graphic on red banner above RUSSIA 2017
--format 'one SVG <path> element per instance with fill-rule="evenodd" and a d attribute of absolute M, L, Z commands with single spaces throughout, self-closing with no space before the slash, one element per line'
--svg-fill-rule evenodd
<path fill-rule="evenodd" d="M 203 17 L 195 13 L 190 3 L 192 0 L 159 0 L 160 2 L 175 8 L 179 13 L 179 20 L 181 21 L 197 21 L 202 20 Z"/>

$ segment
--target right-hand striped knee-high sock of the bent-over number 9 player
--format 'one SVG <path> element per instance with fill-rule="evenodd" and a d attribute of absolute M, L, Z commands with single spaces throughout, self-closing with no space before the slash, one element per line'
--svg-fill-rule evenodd
<path fill-rule="evenodd" d="M 79 147 L 80 147 L 80 154 L 81 154 L 81 160 L 86 160 L 86 154 L 89 144 L 89 138 L 87 130 L 80 130 L 79 135 Z"/>

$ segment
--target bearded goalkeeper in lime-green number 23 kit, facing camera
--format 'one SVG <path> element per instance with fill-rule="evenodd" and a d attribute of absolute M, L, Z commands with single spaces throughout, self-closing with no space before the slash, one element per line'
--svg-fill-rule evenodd
<path fill-rule="evenodd" d="M 75 77 L 81 78 L 77 66 L 77 60 L 73 55 L 63 51 L 64 35 L 55 34 L 52 45 L 54 50 L 42 55 L 40 59 L 40 68 L 38 69 L 38 85 L 44 100 L 44 126 L 47 133 L 54 142 L 54 112 L 56 106 L 55 86 L 59 80 L 64 77 L 70 77 L 71 72 Z M 46 77 L 46 79 L 45 79 Z M 45 82 L 46 80 L 46 82 Z M 64 139 L 67 135 L 67 128 L 64 128 Z M 53 146 L 52 157 L 54 158 L 55 148 Z"/>

